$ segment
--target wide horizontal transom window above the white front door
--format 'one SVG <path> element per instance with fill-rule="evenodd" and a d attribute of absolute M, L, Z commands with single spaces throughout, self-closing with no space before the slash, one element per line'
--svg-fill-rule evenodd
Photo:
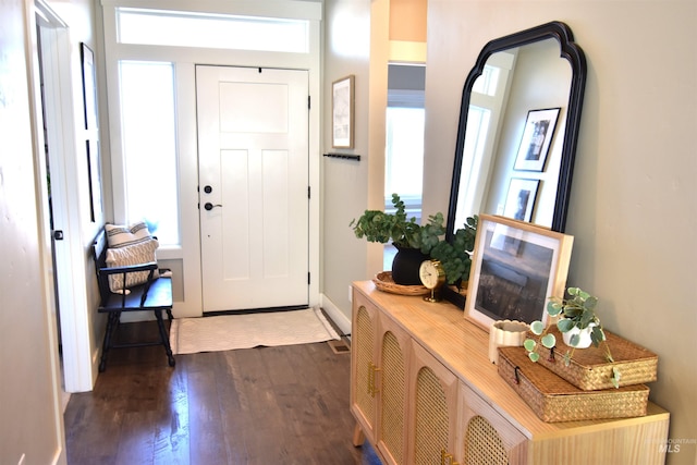
<path fill-rule="evenodd" d="M 118 41 L 307 53 L 309 22 L 133 8 L 117 9 Z"/>

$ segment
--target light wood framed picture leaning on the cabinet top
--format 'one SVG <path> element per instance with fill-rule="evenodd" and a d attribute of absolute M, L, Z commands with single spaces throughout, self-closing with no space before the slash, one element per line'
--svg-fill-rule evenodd
<path fill-rule="evenodd" d="M 487 331 L 498 320 L 547 322 L 547 302 L 563 296 L 574 237 L 533 223 L 480 215 L 465 318 Z"/>

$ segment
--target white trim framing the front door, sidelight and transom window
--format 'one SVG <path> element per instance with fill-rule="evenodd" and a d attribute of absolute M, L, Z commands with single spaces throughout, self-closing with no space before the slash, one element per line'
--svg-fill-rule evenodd
<path fill-rule="evenodd" d="M 174 316 L 201 316 L 201 271 L 198 231 L 198 176 L 197 176 L 197 129 L 195 97 L 195 64 L 224 66 L 281 68 L 309 71 L 309 305 L 319 305 L 320 290 L 320 172 L 322 125 L 322 72 L 321 72 L 321 24 L 320 2 L 280 0 L 278 2 L 206 2 L 196 9 L 208 13 L 241 14 L 248 16 L 295 17 L 309 21 L 309 51 L 307 53 L 250 52 L 249 50 L 205 49 L 193 47 L 140 46 L 120 44 L 117 40 L 115 9 L 126 7 L 126 0 L 102 0 L 103 37 L 109 112 L 109 157 L 108 176 L 112 180 L 114 222 L 126 222 L 123 203 L 123 147 L 119 112 L 119 60 L 151 60 L 174 63 L 176 81 L 176 126 L 179 157 L 179 208 L 181 212 L 181 246 L 161 246 L 158 260 L 172 268 Z M 139 8 L 167 10 L 181 4 L 163 5 L 162 2 L 143 0 Z M 191 5 L 189 5 L 191 7 Z M 188 8 L 188 7 L 187 7 Z M 194 7 L 192 7 L 194 8 Z M 176 278 L 181 277 L 181 278 Z"/>

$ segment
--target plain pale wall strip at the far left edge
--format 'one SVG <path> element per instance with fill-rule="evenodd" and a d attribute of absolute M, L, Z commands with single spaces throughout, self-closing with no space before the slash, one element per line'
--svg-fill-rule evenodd
<path fill-rule="evenodd" d="M 42 295 L 29 11 L 25 1 L 0 3 L 0 463 L 8 464 L 65 463 L 56 326 Z"/>

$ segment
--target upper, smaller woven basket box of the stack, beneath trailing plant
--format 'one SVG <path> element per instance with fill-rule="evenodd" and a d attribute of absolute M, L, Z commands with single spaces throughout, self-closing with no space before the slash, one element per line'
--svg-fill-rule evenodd
<path fill-rule="evenodd" d="M 576 348 L 568 366 L 564 364 L 564 353 L 567 348 L 562 341 L 562 334 L 555 326 L 549 331 L 557 338 L 554 357 L 550 357 L 550 350 L 540 344 L 540 359 L 537 362 L 554 371 L 575 387 L 585 391 L 612 388 L 612 367 L 620 370 L 620 386 L 643 384 L 656 381 L 658 370 L 658 355 L 648 350 L 606 331 L 606 338 L 613 363 L 606 358 L 604 344 L 599 347 Z"/>

